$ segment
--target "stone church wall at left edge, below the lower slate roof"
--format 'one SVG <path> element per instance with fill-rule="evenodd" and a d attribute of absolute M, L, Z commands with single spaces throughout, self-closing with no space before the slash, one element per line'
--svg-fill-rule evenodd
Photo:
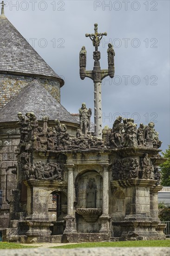
<path fill-rule="evenodd" d="M 9 207 L 12 189 L 17 187 L 17 157 L 14 154 L 20 143 L 19 129 L 16 127 L 0 129 L 0 189 L 2 190 L 2 207 L 0 211 L 0 228 L 9 225 Z"/>

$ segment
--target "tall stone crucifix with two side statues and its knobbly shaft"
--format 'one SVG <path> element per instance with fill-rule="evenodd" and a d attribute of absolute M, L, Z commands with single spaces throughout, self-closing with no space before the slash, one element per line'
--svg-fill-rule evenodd
<path fill-rule="evenodd" d="M 111 44 L 108 45 L 108 69 L 101 70 L 100 67 L 100 52 L 98 51 L 98 47 L 100 45 L 100 41 L 104 35 L 107 33 L 98 33 L 98 24 L 94 24 L 94 34 L 85 34 L 86 37 L 90 37 L 92 40 L 93 46 L 95 47 L 95 51 L 93 52 L 94 59 L 94 67 L 93 70 L 86 71 L 86 50 L 85 46 L 81 48 L 79 54 L 80 61 L 80 78 L 82 80 L 85 77 L 89 77 L 94 82 L 94 125 L 95 125 L 95 135 L 98 138 L 102 138 L 102 94 L 101 94 L 101 82 L 106 76 L 114 77 L 115 67 L 114 67 L 114 56 L 115 52 Z"/>

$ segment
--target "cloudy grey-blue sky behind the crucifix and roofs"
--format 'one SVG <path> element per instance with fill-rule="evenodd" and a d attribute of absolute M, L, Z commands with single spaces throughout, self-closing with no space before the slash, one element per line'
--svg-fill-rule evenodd
<path fill-rule="evenodd" d="M 4 2 L 7 18 L 65 80 L 61 104 L 71 113 L 78 113 L 82 102 L 94 108 L 93 82 L 79 77 L 79 51 L 86 47 L 86 70 L 92 70 L 94 47 L 85 34 L 98 23 L 98 32 L 107 32 L 99 47 L 102 69 L 107 68 L 109 42 L 116 53 L 115 78 L 107 77 L 102 85 L 103 126 L 112 127 L 118 115 L 132 117 L 138 125 L 154 121 L 163 151 L 168 147 L 169 0 Z"/>

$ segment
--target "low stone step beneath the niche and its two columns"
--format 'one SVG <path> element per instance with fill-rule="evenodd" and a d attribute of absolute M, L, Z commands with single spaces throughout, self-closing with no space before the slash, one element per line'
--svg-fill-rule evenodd
<path fill-rule="evenodd" d="M 61 243 L 110 242 L 110 234 L 105 233 L 67 233 Z"/>

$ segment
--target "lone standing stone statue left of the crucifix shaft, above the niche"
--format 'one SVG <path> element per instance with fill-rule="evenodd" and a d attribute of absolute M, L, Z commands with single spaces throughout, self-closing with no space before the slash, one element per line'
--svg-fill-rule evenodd
<path fill-rule="evenodd" d="M 86 108 L 85 102 L 82 103 L 82 107 L 79 108 L 79 116 L 80 116 L 80 130 L 82 134 L 87 135 L 87 128 L 89 126 L 89 118 L 91 117 L 91 113 L 89 113 L 89 109 Z"/>

